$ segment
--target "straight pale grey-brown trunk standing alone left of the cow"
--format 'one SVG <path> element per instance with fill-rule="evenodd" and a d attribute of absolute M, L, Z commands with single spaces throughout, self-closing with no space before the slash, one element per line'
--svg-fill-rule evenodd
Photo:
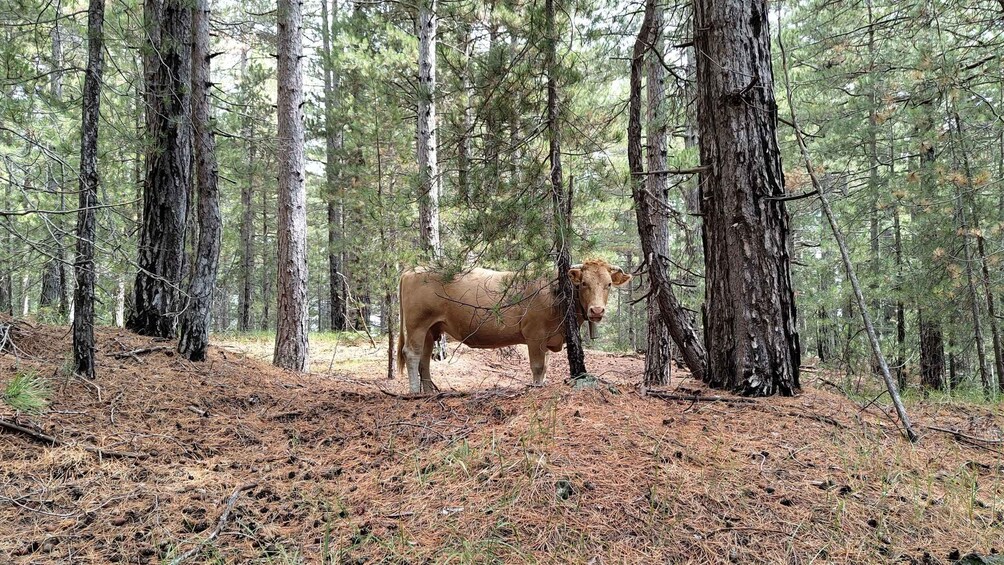
<path fill-rule="evenodd" d="M 279 0 L 279 240 L 276 366 L 307 369 L 307 194 L 303 157 L 303 15 L 297 0 Z"/>

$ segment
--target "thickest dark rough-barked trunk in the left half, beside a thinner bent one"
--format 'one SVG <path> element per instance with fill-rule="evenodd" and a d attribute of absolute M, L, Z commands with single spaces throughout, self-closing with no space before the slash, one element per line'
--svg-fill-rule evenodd
<path fill-rule="evenodd" d="M 126 326 L 143 335 L 174 337 L 192 184 L 192 8 L 184 0 L 147 0 L 144 19 L 150 150 L 136 301 Z"/>

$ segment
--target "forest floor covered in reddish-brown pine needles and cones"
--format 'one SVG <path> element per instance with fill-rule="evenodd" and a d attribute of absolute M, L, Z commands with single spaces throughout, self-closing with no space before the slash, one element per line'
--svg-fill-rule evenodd
<path fill-rule="evenodd" d="M 0 556 L 23 563 L 951 563 L 1004 551 L 1004 416 L 914 402 L 923 438 L 806 371 L 792 398 L 643 396 L 644 359 L 587 352 L 602 381 L 525 386 L 525 352 L 452 348 L 404 397 L 386 348 L 294 374 L 241 340 L 191 363 L 100 329 L 98 377 L 66 377 L 35 327 L 3 380 L 37 371 L 41 415 L 0 417 Z M 163 349 L 156 349 L 164 347 Z M 154 350 L 142 351 L 143 349 Z M 331 348 L 333 349 L 333 348 Z M 133 351 L 133 353 L 130 353 Z M 334 359 L 333 361 L 331 359 Z M 670 390 L 718 394 L 677 371 Z M 958 431 L 958 435 L 934 430 Z M 58 441 L 32 439 L 45 434 Z M 998 442 L 971 445 L 968 437 Z"/>

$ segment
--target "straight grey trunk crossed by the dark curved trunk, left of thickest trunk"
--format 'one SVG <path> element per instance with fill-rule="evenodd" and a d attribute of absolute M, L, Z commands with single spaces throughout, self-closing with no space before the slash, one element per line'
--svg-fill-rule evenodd
<path fill-rule="evenodd" d="M 649 175 L 646 177 L 649 197 L 655 204 L 652 222 L 653 246 L 656 253 L 670 255 L 670 219 L 667 210 L 670 205 L 666 175 L 653 174 L 666 171 L 666 67 L 663 66 L 663 6 L 658 1 L 646 4 L 646 10 L 653 10 L 652 27 L 647 42 L 650 45 L 648 59 L 648 116 L 646 137 L 648 140 Z M 646 386 L 664 386 L 670 383 L 673 372 L 673 351 L 670 330 L 666 326 L 659 299 L 650 294 L 646 300 L 649 339 L 645 354 Z"/>

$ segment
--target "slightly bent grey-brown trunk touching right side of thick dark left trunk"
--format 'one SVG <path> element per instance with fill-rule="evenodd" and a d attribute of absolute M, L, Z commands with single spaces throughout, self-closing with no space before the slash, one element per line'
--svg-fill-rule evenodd
<path fill-rule="evenodd" d="M 209 111 L 210 75 L 209 0 L 196 0 L 193 16 L 192 120 L 195 124 L 195 165 L 199 182 L 199 245 L 192 266 L 189 302 L 182 314 L 178 351 L 192 361 L 206 360 L 209 346 L 209 315 L 216 291 L 220 264 L 222 225 L 220 220 L 219 167 L 216 137 Z"/>

